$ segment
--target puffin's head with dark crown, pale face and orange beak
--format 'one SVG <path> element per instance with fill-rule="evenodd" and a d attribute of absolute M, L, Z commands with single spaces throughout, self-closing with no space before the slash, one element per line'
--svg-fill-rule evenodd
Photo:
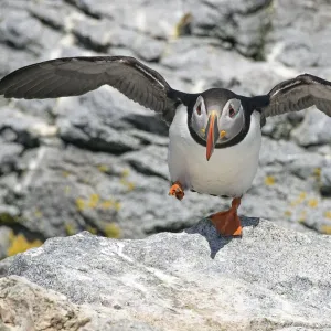
<path fill-rule="evenodd" d="M 245 126 L 242 102 L 228 89 L 203 92 L 193 106 L 191 128 L 206 143 L 210 160 L 215 146 L 222 146 L 241 134 Z"/>

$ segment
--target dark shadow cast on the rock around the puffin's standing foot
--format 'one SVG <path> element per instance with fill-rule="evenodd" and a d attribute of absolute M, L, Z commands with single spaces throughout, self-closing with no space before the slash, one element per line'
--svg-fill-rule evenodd
<path fill-rule="evenodd" d="M 256 227 L 259 224 L 259 218 L 241 216 L 242 226 Z M 209 218 L 201 220 L 196 225 L 184 231 L 188 234 L 200 234 L 205 237 L 210 245 L 211 258 L 214 259 L 220 249 L 227 245 L 231 241 L 241 241 L 242 237 L 222 236 L 217 233 L 213 223 Z"/>

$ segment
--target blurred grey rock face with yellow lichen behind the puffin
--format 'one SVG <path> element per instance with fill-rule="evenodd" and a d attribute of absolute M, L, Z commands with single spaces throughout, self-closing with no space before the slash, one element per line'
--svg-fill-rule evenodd
<path fill-rule="evenodd" d="M 267 93 L 308 72 L 331 79 L 328 0 L 1 0 L 0 77 L 33 62 L 132 55 L 177 89 Z M 241 213 L 331 233 L 331 119 L 270 118 Z M 168 128 L 110 87 L 0 99 L 0 258 L 83 229 L 120 238 L 178 232 L 227 200 L 168 196 Z"/>

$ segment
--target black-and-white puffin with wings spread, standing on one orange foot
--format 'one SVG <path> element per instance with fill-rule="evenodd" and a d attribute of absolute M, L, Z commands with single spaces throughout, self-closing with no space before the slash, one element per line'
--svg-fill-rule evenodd
<path fill-rule="evenodd" d="M 299 75 L 253 97 L 224 88 L 191 94 L 171 88 L 158 72 L 129 56 L 63 57 L 24 66 L 0 81 L 0 95 L 56 98 L 102 85 L 157 111 L 170 126 L 170 195 L 182 200 L 192 190 L 233 199 L 229 210 L 209 216 L 226 236 L 242 235 L 237 209 L 258 168 L 266 118 L 313 105 L 331 116 L 331 83 L 313 75 Z"/>

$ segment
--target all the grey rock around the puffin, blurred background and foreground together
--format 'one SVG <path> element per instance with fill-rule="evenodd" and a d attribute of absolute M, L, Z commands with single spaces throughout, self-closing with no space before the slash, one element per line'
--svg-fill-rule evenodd
<path fill-rule="evenodd" d="M 328 0 L 0 4 L 0 77 L 124 54 L 188 92 L 331 79 Z M 200 221 L 227 200 L 167 195 L 168 128 L 110 87 L 0 108 L 1 331 L 331 330 L 330 118 L 268 119 L 235 239 Z"/>

